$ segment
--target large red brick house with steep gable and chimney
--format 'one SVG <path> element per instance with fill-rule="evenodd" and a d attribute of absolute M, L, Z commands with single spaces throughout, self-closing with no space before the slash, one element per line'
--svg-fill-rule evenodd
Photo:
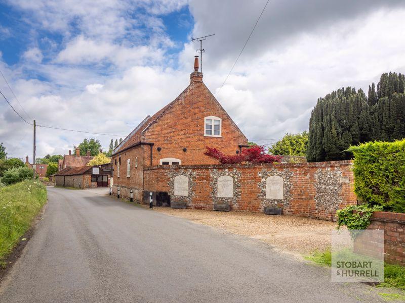
<path fill-rule="evenodd" d="M 198 59 L 190 84 L 171 103 L 146 117 L 115 149 L 113 193 L 134 190 L 142 200 L 144 168 L 157 165 L 216 164 L 204 155 L 206 146 L 225 154 L 239 153 L 248 139 L 203 82 Z"/>

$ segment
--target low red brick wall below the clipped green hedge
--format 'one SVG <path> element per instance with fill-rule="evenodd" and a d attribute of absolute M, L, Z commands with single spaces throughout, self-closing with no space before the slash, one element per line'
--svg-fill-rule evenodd
<path fill-rule="evenodd" d="M 368 229 L 384 230 L 384 260 L 405 266 L 405 214 L 375 212 Z"/>

